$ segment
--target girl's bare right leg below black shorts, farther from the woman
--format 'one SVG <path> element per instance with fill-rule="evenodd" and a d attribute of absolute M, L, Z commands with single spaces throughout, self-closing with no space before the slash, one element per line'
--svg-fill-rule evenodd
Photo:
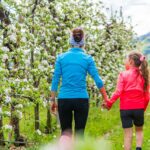
<path fill-rule="evenodd" d="M 141 150 L 143 143 L 143 126 L 137 127 L 135 126 L 136 131 L 136 147 L 138 150 Z"/>

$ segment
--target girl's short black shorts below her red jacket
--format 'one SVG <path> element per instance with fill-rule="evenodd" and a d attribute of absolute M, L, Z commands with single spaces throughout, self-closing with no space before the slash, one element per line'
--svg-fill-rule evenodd
<path fill-rule="evenodd" d="M 137 127 L 144 125 L 144 109 L 120 110 L 123 128 L 131 128 L 133 124 Z"/>

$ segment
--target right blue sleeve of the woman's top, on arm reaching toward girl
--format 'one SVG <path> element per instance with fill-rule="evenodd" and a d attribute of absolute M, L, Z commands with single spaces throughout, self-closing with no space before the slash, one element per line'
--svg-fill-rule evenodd
<path fill-rule="evenodd" d="M 95 62 L 93 58 L 89 57 L 89 66 L 88 66 L 88 73 L 94 79 L 96 86 L 100 89 L 104 86 L 101 77 L 99 76 L 98 70 L 96 68 Z"/>

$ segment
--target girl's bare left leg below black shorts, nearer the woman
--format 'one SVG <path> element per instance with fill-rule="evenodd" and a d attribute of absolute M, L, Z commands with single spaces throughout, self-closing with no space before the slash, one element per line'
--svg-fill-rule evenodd
<path fill-rule="evenodd" d="M 124 128 L 124 150 L 131 150 L 133 128 Z"/>

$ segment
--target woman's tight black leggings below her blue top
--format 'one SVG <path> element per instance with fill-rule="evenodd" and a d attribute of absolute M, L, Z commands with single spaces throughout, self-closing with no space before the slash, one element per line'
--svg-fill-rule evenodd
<path fill-rule="evenodd" d="M 58 113 L 62 134 L 72 132 L 72 121 L 75 121 L 75 133 L 84 134 L 89 111 L 89 100 L 84 98 L 58 99 Z"/>

